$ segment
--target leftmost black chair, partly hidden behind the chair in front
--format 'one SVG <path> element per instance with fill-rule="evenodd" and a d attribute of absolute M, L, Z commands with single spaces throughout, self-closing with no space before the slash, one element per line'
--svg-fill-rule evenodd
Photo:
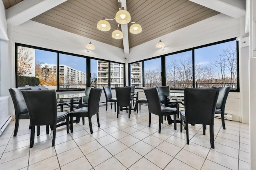
<path fill-rule="evenodd" d="M 28 107 L 21 90 L 31 90 L 31 88 L 10 88 L 9 92 L 15 110 L 15 127 L 13 136 L 17 136 L 20 119 L 29 119 Z"/>

